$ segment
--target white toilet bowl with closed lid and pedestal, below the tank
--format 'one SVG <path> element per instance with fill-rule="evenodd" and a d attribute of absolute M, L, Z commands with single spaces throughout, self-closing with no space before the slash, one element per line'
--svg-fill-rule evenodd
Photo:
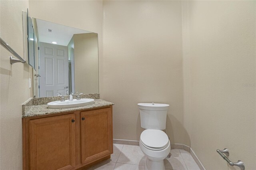
<path fill-rule="evenodd" d="M 171 145 L 162 130 L 144 130 L 140 135 L 140 149 L 146 156 L 145 170 L 165 170 L 164 158 L 170 153 Z"/>

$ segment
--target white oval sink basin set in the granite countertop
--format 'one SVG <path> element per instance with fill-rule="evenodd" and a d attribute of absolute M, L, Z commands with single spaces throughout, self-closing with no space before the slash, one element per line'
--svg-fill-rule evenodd
<path fill-rule="evenodd" d="M 94 103 L 94 99 L 80 99 L 73 101 L 65 100 L 65 101 L 52 101 L 50 103 L 47 103 L 48 107 L 50 109 L 68 109 L 72 107 L 82 107 L 86 105 L 90 105 Z"/>

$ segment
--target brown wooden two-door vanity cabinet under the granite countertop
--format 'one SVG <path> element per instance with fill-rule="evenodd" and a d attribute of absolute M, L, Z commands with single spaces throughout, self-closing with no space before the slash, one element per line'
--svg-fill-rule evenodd
<path fill-rule="evenodd" d="M 84 170 L 113 153 L 112 106 L 22 121 L 24 170 Z"/>

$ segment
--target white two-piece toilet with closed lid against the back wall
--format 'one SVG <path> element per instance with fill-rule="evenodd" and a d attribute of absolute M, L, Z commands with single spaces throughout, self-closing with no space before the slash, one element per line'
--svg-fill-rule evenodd
<path fill-rule="evenodd" d="M 138 103 L 140 125 L 145 128 L 140 135 L 140 148 L 146 156 L 146 170 L 165 170 L 164 158 L 170 153 L 170 140 L 165 132 L 168 104 Z"/>

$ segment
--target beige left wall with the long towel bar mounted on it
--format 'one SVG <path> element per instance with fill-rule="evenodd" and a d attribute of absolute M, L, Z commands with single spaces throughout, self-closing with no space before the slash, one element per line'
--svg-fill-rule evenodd
<path fill-rule="evenodd" d="M 1 38 L 23 57 L 22 10 L 28 1 L 0 1 Z M 28 64 L 10 64 L 10 52 L 1 45 L 0 52 L 0 169 L 22 169 L 22 103 L 32 97 Z M 12 55 L 13 56 L 13 55 Z"/>

